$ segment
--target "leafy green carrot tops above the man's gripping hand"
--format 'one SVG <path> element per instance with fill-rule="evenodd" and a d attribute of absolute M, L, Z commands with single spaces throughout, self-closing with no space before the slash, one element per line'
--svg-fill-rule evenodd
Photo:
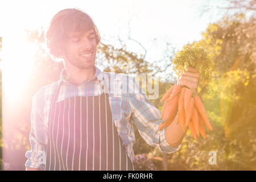
<path fill-rule="evenodd" d="M 175 54 L 172 60 L 174 70 L 184 72 L 188 67 L 196 68 L 200 74 L 200 82 L 208 83 L 213 70 L 213 60 L 208 55 L 205 48 L 201 46 L 184 46 Z"/>

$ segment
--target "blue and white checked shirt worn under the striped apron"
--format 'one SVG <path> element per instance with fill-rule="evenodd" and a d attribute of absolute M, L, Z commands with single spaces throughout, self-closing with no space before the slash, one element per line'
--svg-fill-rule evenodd
<path fill-rule="evenodd" d="M 148 100 L 135 78 L 125 74 L 101 72 L 96 66 L 95 68 L 94 77 L 80 84 L 68 81 L 69 76 L 63 69 L 60 74 L 59 81 L 62 84 L 57 101 L 76 96 L 97 96 L 107 92 L 113 121 L 131 161 L 134 159 L 135 142 L 132 122 L 138 127 L 142 138 L 151 146 L 156 146 L 160 151 L 169 154 L 179 150 L 181 144 L 177 148 L 170 146 L 164 137 L 164 129 L 158 131 L 158 126 L 162 122 L 160 111 Z M 49 107 L 57 84 L 58 81 L 43 86 L 32 97 L 29 136 L 31 150 L 26 152 L 26 167 L 44 170 L 42 155 L 46 154 Z M 105 85 L 105 90 L 102 90 L 102 84 Z"/>

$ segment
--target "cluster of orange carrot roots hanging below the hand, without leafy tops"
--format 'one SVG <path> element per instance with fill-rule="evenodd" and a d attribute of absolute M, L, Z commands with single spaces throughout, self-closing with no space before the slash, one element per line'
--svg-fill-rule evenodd
<path fill-rule="evenodd" d="M 197 139 L 200 135 L 205 138 L 204 124 L 212 131 L 212 125 L 207 117 L 205 107 L 199 96 L 192 96 L 191 89 L 180 85 L 173 85 L 164 94 L 160 102 L 164 102 L 158 130 L 170 125 L 178 114 L 177 123 L 180 123 L 183 131 L 187 127 L 191 131 L 193 138 Z"/>

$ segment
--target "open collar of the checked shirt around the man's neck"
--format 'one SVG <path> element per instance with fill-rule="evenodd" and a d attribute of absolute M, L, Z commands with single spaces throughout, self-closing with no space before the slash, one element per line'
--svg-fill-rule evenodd
<path fill-rule="evenodd" d="M 73 84 L 73 85 L 82 85 L 82 84 L 92 81 L 92 80 L 98 80 L 99 82 L 101 82 L 102 81 L 102 74 L 101 74 L 102 72 L 98 67 L 96 67 L 96 65 L 94 65 L 94 68 L 96 68 L 95 75 L 92 78 L 90 78 L 89 80 L 82 81 L 79 84 L 69 81 L 69 78 L 71 76 L 67 73 L 67 69 L 64 68 L 60 73 L 60 82 L 64 82 L 65 84 Z"/>

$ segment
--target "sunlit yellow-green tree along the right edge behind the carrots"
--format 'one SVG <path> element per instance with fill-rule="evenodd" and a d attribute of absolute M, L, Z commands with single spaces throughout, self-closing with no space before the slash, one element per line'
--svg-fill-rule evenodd
<path fill-rule="evenodd" d="M 205 47 L 215 63 L 212 82 L 199 88 L 199 94 L 217 130 L 204 141 L 212 143 L 221 157 L 217 168 L 206 165 L 205 169 L 256 168 L 255 32 L 253 16 L 249 20 L 242 14 L 226 16 L 209 24 L 202 39 L 192 43 Z"/>

